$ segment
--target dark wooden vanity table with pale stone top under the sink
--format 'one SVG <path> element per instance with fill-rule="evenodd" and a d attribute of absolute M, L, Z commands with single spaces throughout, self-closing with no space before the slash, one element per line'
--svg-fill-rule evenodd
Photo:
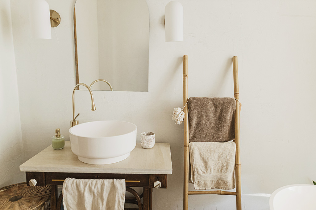
<path fill-rule="evenodd" d="M 64 149 L 54 150 L 50 145 L 20 166 L 26 172 L 26 181 L 37 181 L 36 186 L 51 185 L 51 209 L 57 209 L 57 185 L 62 185 L 67 177 L 76 179 L 125 179 L 126 189 L 143 187 L 143 193 L 136 198 L 128 198 L 125 203 L 137 204 L 143 196 L 143 205 L 139 209 L 151 209 L 151 196 L 154 183 L 161 182 L 160 188 L 167 188 L 167 174 L 172 173 L 170 145 L 156 143 L 151 149 L 143 149 L 140 143 L 131 151 L 131 155 L 117 163 L 108 165 L 90 165 L 78 160 L 72 153 L 70 142 Z M 135 196 L 134 191 L 132 194 Z"/>

